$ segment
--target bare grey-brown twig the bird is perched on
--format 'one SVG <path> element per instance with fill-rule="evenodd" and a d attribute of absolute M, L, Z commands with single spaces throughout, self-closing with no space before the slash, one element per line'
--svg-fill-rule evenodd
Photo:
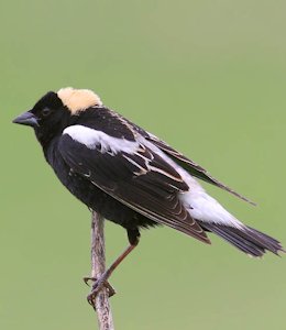
<path fill-rule="evenodd" d="M 105 221 L 97 212 L 92 212 L 91 221 L 91 277 L 99 278 L 106 271 Z M 97 312 L 100 330 L 114 330 L 109 293 L 106 287 L 98 293 L 94 309 Z"/>

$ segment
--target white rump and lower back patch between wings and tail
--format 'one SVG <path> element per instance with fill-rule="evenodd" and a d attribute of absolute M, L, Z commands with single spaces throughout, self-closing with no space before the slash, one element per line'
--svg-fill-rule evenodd
<path fill-rule="evenodd" d="M 143 143 L 142 141 L 140 142 Z M 209 196 L 187 170 L 175 163 L 152 142 L 145 140 L 143 144 L 172 165 L 189 186 L 189 191 L 182 193 L 179 199 L 194 219 L 239 229 L 244 228 L 244 224 L 229 213 L 215 198 Z"/>

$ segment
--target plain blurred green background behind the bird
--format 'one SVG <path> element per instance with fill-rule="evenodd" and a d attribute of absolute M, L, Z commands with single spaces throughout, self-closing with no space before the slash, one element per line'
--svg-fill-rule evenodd
<path fill-rule="evenodd" d="M 286 244 L 286 2 L 64 1 L 0 4 L 0 328 L 96 329 L 90 213 L 11 120 L 47 90 L 91 88 L 255 200 L 207 187 Z M 107 223 L 110 263 L 125 232 Z M 286 258 L 211 237 L 144 231 L 111 279 L 117 329 L 284 329 Z"/>

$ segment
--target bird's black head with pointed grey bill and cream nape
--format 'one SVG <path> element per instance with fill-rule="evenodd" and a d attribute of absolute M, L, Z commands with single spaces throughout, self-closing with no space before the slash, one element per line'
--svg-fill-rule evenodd
<path fill-rule="evenodd" d="M 92 90 L 67 87 L 57 92 L 48 91 L 13 122 L 32 127 L 37 140 L 45 144 L 65 128 L 75 124 L 86 109 L 101 106 L 100 98 Z"/>

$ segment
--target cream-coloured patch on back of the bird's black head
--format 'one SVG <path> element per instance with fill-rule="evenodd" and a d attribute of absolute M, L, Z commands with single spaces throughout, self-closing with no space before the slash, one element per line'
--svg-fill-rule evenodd
<path fill-rule="evenodd" d="M 59 89 L 57 96 L 73 114 L 94 106 L 102 106 L 99 96 L 90 89 L 67 87 Z"/>

